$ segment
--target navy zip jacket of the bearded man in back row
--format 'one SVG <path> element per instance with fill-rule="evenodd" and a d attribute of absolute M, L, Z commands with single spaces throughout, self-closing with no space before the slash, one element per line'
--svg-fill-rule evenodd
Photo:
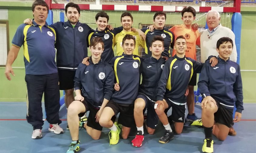
<path fill-rule="evenodd" d="M 56 30 L 56 63 L 59 69 L 76 70 L 83 58 L 87 57 L 88 35 L 94 30 L 88 25 L 77 22 L 75 27 L 67 22 L 51 25 Z"/>

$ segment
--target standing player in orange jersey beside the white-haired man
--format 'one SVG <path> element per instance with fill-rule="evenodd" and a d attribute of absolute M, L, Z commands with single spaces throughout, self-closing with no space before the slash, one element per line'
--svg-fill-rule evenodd
<path fill-rule="evenodd" d="M 185 55 L 186 57 L 192 58 L 194 60 L 197 60 L 196 58 L 196 45 L 200 47 L 200 34 L 198 30 L 192 29 L 192 23 L 196 18 L 196 10 L 189 6 L 183 8 L 181 11 L 181 19 L 183 21 L 183 24 L 181 25 L 175 25 L 169 30 L 174 33 L 175 37 L 178 37 L 179 35 L 183 35 L 186 38 L 187 41 L 187 48 Z M 173 49 L 174 56 L 176 54 L 176 50 Z M 215 58 L 214 58 L 215 59 Z M 187 96 L 187 108 L 188 108 L 188 114 L 187 119 L 189 121 L 197 120 L 197 116 L 194 113 L 194 86 L 197 85 L 197 74 L 195 73 L 189 84 L 188 89 L 189 93 Z"/>

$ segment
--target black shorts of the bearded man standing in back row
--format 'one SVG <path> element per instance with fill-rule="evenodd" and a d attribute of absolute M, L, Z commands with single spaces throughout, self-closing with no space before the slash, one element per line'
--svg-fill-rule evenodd
<path fill-rule="evenodd" d="M 76 71 L 74 70 L 61 70 L 59 73 L 59 90 L 68 90 L 74 88 L 74 78 Z"/>

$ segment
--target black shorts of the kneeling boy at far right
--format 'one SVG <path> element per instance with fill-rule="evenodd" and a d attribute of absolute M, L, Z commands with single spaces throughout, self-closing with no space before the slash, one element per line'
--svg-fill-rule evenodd
<path fill-rule="evenodd" d="M 221 105 L 219 101 L 214 100 L 218 106 L 218 110 L 214 113 L 215 123 L 220 123 L 231 128 L 231 124 L 233 123 L 233 109 L 226 108 L 224 105 Z"/>

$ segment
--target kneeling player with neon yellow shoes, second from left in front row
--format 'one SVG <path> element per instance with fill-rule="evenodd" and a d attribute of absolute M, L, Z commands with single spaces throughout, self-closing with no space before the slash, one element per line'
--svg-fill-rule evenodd
<path fill-rule="evenodd" d="M 134 124 L 134 100 L 138 94 L 140 80 L 140 57 L 133 55 L 136 45 L 135 38 L 126 34 L 123 37 L 123 55 L 114 57 L 110 63 L 113 66 L 116 84 L 119 91 L 114 91 L 111 100 L 104 108 L 99 118 L 99 124 L 109 128 L 111 134 L 109 143 L 115 145 L 119 141 L 120 128 L 111 121 L 120 112 L 118 123 L 123 125 L 122 138 L 127 139 L 131 126 Z"/>

